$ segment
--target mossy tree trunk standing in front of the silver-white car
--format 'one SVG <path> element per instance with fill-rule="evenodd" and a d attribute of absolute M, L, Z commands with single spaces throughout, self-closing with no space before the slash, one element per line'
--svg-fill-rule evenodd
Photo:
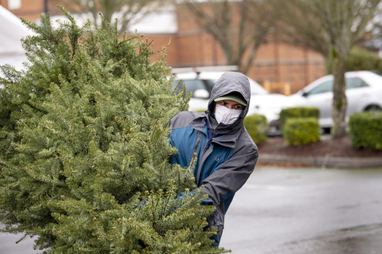
<path fill-rule="evenodd" d="M 334 56 L 333 59 L 333 104 L 332 104 L 332 137 L 339 138 L 346 135 L 346 84 L 345 84 L 345 57 Z"/>

